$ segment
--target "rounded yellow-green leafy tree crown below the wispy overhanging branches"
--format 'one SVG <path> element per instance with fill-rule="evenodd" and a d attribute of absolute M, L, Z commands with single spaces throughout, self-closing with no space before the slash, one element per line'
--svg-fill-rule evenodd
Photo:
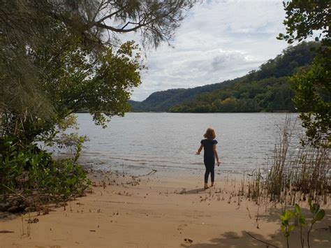
<path fill-rule="evenodd" d="M 96 53 L 63 29 L 55 33 L 61 34 L 60 43 L 30 53 L 34 64 L 43 68 L 43 92 L 59 119 L 87 109 L 96 124 L 105 126 L 105 116 L 124 115 L 144 68 L 138 46 L 129 41 L 116 51 L 103 48 Z"/>

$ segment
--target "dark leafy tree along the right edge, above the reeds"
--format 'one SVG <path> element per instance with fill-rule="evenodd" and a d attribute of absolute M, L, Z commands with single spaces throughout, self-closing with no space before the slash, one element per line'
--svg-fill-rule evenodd
<path fill-rule="evenodd" d="M 318 56 L 309 68 L 293 76 L 295 107 L 300 111 L 302 125 L 313 145 L 330 146 L 330 94 L 331 94 L 331 6 L 328 0 L 292 0 L 284 2 L 286 34 L 279 39 L 288 43 L 303 41 L 319 34 Z M 325 144 L 326 143 L 326 144 Z"/>

